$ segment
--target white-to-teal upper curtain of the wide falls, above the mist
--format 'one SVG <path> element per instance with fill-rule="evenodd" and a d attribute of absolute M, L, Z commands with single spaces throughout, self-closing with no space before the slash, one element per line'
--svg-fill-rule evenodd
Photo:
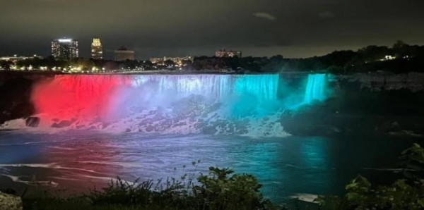
<path fill-rule="evenodd" d="M 275 100 L 278 75 L 136 75 L 133 87 L 155 86 L 158 93 L 201 94 L 222 99 L 231 95 Z"/>

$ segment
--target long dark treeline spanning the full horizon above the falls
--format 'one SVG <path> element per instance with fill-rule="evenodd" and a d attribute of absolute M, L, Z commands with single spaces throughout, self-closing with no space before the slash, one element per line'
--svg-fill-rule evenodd
<path fill-rule="evenodd" d="M 48 70 L 56 67 L 76 68 L 78 70 L 189 70 L 189 71 L 235 71 L 237 73 L 280 73 L 290 71 L 326 71 L 329 73 L 367 73 L 388 71 L 393 73 L 424 72 L 424 46 L 409 45 L 397 41 L 392 47 L 371 45 L 357 51 L 334 51 L 324 56 L 312 58 L 283 58 L 281 55 L 272 57 L 221 58 L 199 56 L 194 61 L 164 61 L 161 64 L 151 61 L 98 61 L 86 58 L 76 58 L 70 61 L 47 58 L 32 58 L 17 63 L 0 61 L 0 68 L 10 70 L 28 70 L 44 67 Z M 77 70 L 77 71 L 78 71 Z"/>

